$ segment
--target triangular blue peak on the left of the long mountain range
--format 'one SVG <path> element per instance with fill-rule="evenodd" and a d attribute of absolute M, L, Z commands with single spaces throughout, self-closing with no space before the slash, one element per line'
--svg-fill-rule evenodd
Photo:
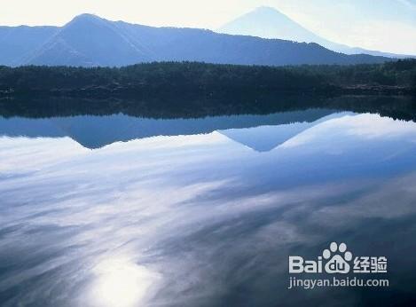
<path fill-rule="evenodd" d="M 117 23 L 83 14 L 59 30 L 36 50 L 29 64 L 69 66 L 123 66 L 150 60 Z"/>

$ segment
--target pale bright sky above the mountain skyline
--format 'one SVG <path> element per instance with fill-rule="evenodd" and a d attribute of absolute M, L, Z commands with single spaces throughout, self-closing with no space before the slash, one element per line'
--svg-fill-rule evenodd
<path fill-rule="evenodd" d="M 216 29 L 258 6 L 352 47 L 416 54 L 416 0 L 0 0 L 0 25 L 64 25 L 89 12 L 149 26 Z"/>

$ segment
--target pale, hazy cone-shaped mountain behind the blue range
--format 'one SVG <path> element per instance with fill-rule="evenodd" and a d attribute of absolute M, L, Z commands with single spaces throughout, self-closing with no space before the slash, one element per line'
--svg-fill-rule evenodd
<path fill-rule="evenodd" d="M 271 39 L 279 38 L 294 42 L 318 43 L 327 49 L 345 54 L 365 53 L 389 58 L 412 57 L 389 52 L 370 51 L 328 41 L 310 30 L 303 28 L 300 24 L 291 20 L 278 10 L 266 6 L 258 7 L 236 20 L 232 20 L 222 28 L 219 28 L 217 32 L 230 35 L 253 35 Z"/>

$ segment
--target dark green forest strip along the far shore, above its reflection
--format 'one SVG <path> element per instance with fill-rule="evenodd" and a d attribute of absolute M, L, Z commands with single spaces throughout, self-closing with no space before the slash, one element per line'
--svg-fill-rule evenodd
<path fill-rule="evenodd" d="M 416 59 L 355 66 L 262 67 L 161 62 L 129 67 L 0 67 L 2 96 L 158 97 L 217 93 L 407 93 Z"/>

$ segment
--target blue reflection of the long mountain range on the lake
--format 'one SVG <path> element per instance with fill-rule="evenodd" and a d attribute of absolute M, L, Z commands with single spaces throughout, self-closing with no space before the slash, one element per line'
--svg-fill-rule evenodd
<path fill-rule="evenodd" d="M 253 127 L 283 127 L 291 122 L 317 121 L 328 114 L 330 109 L 310 109 L 276 114 L 253 114 L 231 116 L 208 116 L 195 119 L 153 119 L 133 117 L 124 114 L 107 116 L 79 115 L 51 118 L 4 118 L 0 115 L 0 137 L 27 138 L 72 138 L 85 148 L 97 149 L 115 142 L 127 142 L 138 138 L 157 136 L 179 136 L 211 133 L 239 133 Z M 234 132 L 232 132 L 234 131 Z M 231 137 L 229 137 L 231 138 Z M 274 140 L 271 136 L 268 141 Z M 240 143 L 243 143 L 241 141 Z M 243 143 L 244 144 L 244 143 Z M 274 143 L 273 143 L 274 144 Z"/>

